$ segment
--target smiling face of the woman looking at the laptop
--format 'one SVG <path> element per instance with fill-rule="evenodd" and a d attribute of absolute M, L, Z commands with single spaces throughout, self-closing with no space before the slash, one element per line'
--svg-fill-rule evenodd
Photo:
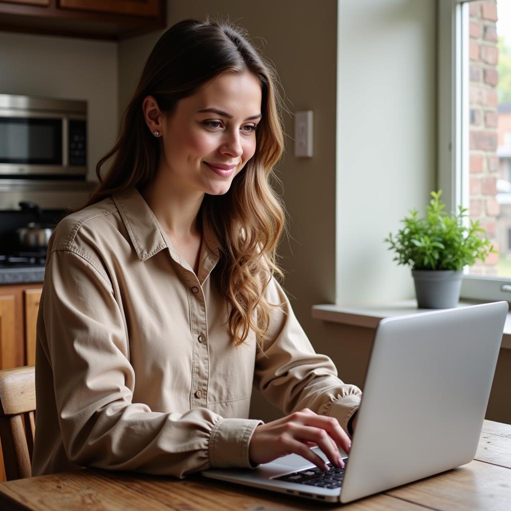
<path fill-rule="evenodd" d="M 261 99 L 254 75 L 225 72 L 180 100 L 156 128 L 162 137 L 159 177 L 183 191 L 226 193 L 255 152 Z"/>

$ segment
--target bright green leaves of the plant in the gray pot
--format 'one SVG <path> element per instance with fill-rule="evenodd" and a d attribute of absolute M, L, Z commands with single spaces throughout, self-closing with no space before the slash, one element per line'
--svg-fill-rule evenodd
<path fill-rule="evenodd" d="M 413 270 L 461 270 L 497 253 L 490 241 L 481 237 L 485 230 L 479 220 L 469 219 L 466 225 L 467 208 L 459 206 L 458 214 L 448 215 L 440 201 L 442 190 L 431 192 L 431 196 L 424 218 L 417 218 L 419 211 L 410 210 L 396 237 L 390 233 L 384 240 L 390 244 L 389 250 L 396 252 L 394 261 Z"/>

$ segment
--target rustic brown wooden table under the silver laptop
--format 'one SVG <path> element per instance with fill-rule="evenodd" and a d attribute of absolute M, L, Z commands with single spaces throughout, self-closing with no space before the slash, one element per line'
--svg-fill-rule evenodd
<path fill-rule="evenodd" d="M 332 509 L 511 510 L 511 425 L 484 421 L 474 461 L 344 506 L 193 476 L 184 480 L 84 469 L 0 483 L 0 509 L 179 511 Z"/>

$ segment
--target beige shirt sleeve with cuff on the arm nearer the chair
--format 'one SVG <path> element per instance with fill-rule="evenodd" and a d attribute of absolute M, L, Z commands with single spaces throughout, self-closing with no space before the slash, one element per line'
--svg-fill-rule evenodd
<path fill-rule="evenodd" d="M 68 459 L 80 466 L 175 475 L 251 467 L 248 444 L 261 421 L 206 408 L 155 412 L 133 403 L 126 326 L 106 273 L 83 253 L 55 250 L 41 301 L 44 355 Z M 38 382 L 38 392 L 49 382 Z"/>

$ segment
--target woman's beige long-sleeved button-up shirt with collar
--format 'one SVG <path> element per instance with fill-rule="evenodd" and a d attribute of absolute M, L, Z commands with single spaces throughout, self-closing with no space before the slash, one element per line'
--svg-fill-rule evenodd
<path fill-rule="evenodd" d="M 252 385 L 286 414 L 308 407 L 346 429 L 360 390 L 314 352 L 275 280 L 262 353 L 236 346 L 211 277 L 196 275 L 136 189 L 62 220 L 50 241 L 37 322 L 33 475 L 83 466 L 182 477 L 250 467 Z"/>

